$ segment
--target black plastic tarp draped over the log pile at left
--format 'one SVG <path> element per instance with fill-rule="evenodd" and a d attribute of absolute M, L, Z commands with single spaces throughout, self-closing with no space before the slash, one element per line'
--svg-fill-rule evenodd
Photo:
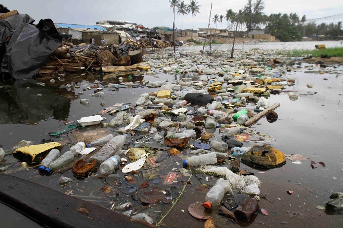
<path fill-rule="evenodd" d="M 0 20 L 0 57 L 3 56 L 0 72 L 8 71 L 15 79 L 31 78 L 62 44 L 51 19 L 41 19 L 36 26 L 33 22 L 26 14 Z"/>

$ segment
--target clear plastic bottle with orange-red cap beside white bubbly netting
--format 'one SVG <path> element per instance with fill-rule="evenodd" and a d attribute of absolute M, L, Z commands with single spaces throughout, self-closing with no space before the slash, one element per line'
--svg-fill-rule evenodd
<path fill-rule="evenodd" d="M 220 204 L 227 191 L 232 191 L 230 181 L 219 178 L 215 185 L 207 192 L 204 207 L 210 209 L 212 206 Z"/>

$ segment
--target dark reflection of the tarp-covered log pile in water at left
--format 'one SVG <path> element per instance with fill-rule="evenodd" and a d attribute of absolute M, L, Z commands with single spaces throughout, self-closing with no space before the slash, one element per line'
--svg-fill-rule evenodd
<path fill-rule="evenodd" d="M 37 124 L 50 117 L 67 120 L 70 100 L 55 94 L 54 88 L 35 83 L 29 79 L 4 85 L 0 90 L 1 124 Z"/>

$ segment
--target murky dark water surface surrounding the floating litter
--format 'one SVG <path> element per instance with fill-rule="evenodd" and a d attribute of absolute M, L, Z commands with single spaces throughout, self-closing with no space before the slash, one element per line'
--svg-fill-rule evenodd
<path fill-rule="evenodd" d="M 165 79 L 174 81 L 184 77 L 163 73 L 158 74 L 158 76 L 159 78 L 154 78 L 150 75 L 133 76 L 132 81 L 161 81 Z M 130 81 L 128 76 L 122 77 L 124 82 Z M 208 77 L 210 76 L 201 75 L 201 79 Z M 299 153 L 309 159 L 302 160 L 301 164 L 293 164 L 287 159 L 285 165 L 270 170 L 255 170 L 241 164 L 240 169 L 246 167 L 251 172 L 262 172 L 255 173 L 255 175 L 262 182 L 261 192 L 267 193 L 269 200 L 272 202 L 261 199 L 259 203 L 261 208 L 269 212 L 269 216 L 259 213 L 249 222 L 239 222 L 239 226 L 342 227 L 342 214 L 319 210 L 316 209 L 316 206 L 325 206 L 325 202 L 329 200 L 332 192 L 342 191 L 343 189 L 343 96 L 339 95 L 343 94 L 343 75 L 319 75 L 304 73 L 303 70 L 299 70 L 287 73 L 286 77 L 296 78 L 295 85 L 292 87 L 285 86 L 286 90 L 296 90 L 300 93 L 314 90 L 317 94 L 309 96 L 299 95 L 296 101 L 290 100 L 287 93 L 271 95 L 269 97 L 270 104 L 275 102 L 281 104 L 275 110 L 279 115 L 279 119 L 274 123 L 269 123 L 263 118 L 259 121 L 259 125 L 255 124 L 252 128 L 256 132 L 275 137 L 276 141 L 271 142 L 272 147 L 285 154 Z M 323 78 L 328 80 L 323 80 Z M 47 133 L 63 128 L 65 121 L 69 122 L 78 120 L 81 117 L 92 116 L 103 108 L 117 102 L 134 103 L 140 94 L 156 91 L 155 88 L 146 87 L 122 88 L 117 91 L 110 91 L 110 88 L 104 88 L 103 92 L 105 94 L 103 98 L 97 98 L 91 96 L 94 89 L 83 91 L 83 87 L 86 88 L 99 81 L 101 81 L 101 85 L 118 83 L 118 79 L 114 78 L 105 82 L 101 76 L 70 75 L 64 78 L 66 81 L 49 83 L 50 79 L 44 78 L 39 80 L 47 83 L 45 87 L 35 85 L 36 81 L 34 80 L 27 80 L 21 83 L 16 82 L 13 85 L 5 85 L 4 88 L 0 89 L 0 145 L 3 149 L 11 148 L 22 139 L 38 142 L 43 139 L 50 139 Z M 191 80 L 198 79 L 198 75 L 191 78 Z M 80 88 L 72 91 L 67 91 L 66 88 L 59 88 L 60 85 L 70 82 L 82 82 L 84 86 L 78 84 Z M 306 84 L 308 83 L 313 84 L 312 89 L 307 88 Z M 78 95 L 79 92 L 84 92 L 84 94 Z M 43 95 L 37 96 L 38 94 Z M 81 105 L 81 98 L 90 99 L 90 106 L 85 107 Z M 104 107 L 100 106 L 102 101 L 106 103 Z M 104 117 L 113 118 L 109 115 Z M 108 121 L 105 120 L 103 122 Z M 61 137 L 66 136 L 62 135 Z M 54 139 L 58 140 L 59 137 Z M 252 145 L 254 145 L 254 142 L 245 144 L 245 146 Z M 67 151 L 67 148 L 63 149 L 63 151 Z M 317 164 L 316 169 L 311 169 L 310 160 L 324 162 L 325 167 Z M 180 165 L 177 165 L 175 161 L 179 162 Z M 182 160 L 179 157 L 167 158 L 164 164 L 165 169 L 161 171 L 163 175 L 172 168 L 181 168 Z M 85 200 L 92 200 L 108 208 L 113 204 L 109 204 L 103 197 L 104 193 L 99 191 L 99 188 L 107 186 L 105 179 L 81 178 L 78 181 L 74 180 L 70 184 L 61 186 L 57 183 L 60 176 L 63 175 L 75 179 L 71 171 L 62 175 L 41 176 L 36 169 L 29 169 L 11 173 L 11 175 L 48 186 L 63 193 L 73 190 L 70 194 L 71 196 L 74 195 Z M 101 173 L 98 171 L 97 175 L 99 176 Z M 195 186 L 199 183 L 214 184 L 217 179 L 216 177 L 210 177 L 210 182 L 206 182 L 205 177 L 206 175 L 204 174 L 192 176 L 192 184 L 187 185 L 180 199 L 181 202 L 178 202 L 164 219 L 164 223 L 167 224 L 166 227 L 203 227 L 203 222 L 189 215 L 188 206 L 197 201 L 204 201 L 206 191 L 199 192 L 194 189 Z M 159 176 L 156 178 L 160 180 L 160 183 L 163 181 Z M 186 182 L 188 177 L 183 176 L 182 180 Z M 143 182 L 145 180 L 139 179 L 135 185 L 139 187 Z M 151 187 L 154 187 L 155 184 L 152 183 L 152 180 L 148 180 L 148 182 Z M 161 189 L 168 188 L 168 186 L 158 184 L 155 186 L 161 187 Z M 173 195 L 173 197 L 178 196 L 182 186 L 182 184 L 176 184 L 176 189 L 171 190 L 169 194 Z M 294 191 L 294 194 L 288 195 L 287 190 Z M 95 197 L 89 197 L 90 195 Z M 125 196 L 121 194 L 114 201 L 117 204 L 123 199 L 125 199 Z M 132 202 L 130 197 L 129 201 Z M 140 206 L 138 202 L 135 201 L 134 206 Z M 149 210 L 151 215 L 158 216 L 157 220 L 159 220 L 161 214 L 164 215 L 170 206 L 171 204 L 156 204 L 149 209 L 145 209 L 145 212 Z M 181 210 L 184 210 L 184 212 Z M 275 215 L 272 215 L 271 212 Z M 22 220 L 24 216 L 19 216 L 12 212 L 6 212 L 5 214 L 7 213 L 14 220 L 19 220 L 19 224 L 23 221 L 22 223 L 27 225 L 27 221 L 24 222 Z M 237 226 L 220 215 L 214 214 L 213 218 L 217 226 Z"/>

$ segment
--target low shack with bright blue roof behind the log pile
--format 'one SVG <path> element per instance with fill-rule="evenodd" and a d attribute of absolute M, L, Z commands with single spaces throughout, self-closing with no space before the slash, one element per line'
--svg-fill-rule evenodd
<path fill-rule="evenodd" d="M 95 39 L 95 44 L 99 46 L 102 39 L 104 39 L 105 43 L 119 44 L 119 34 L 117 32 L 109 32 L 99 25 L 55 23 L 55 27 L 60 34 L 71 35 L 71 41 L 74 44 L 88 43 L 92 37 Z"/>

